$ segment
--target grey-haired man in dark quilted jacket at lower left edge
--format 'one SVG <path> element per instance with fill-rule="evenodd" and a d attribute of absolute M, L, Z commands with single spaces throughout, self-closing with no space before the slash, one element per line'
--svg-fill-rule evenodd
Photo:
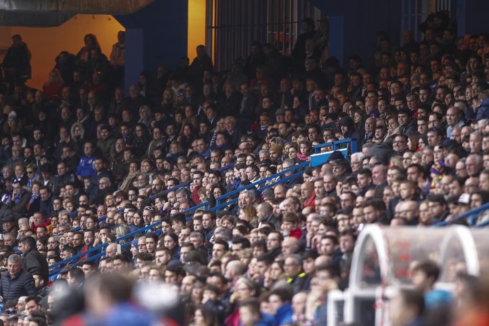
<path fill-rule="evenodd" d="M 36 294 L 36 284 L 32 275 L 22 269 L 21 256 L 10 255 L 7 260 L 7 271 L 0 279 L 0 300 L 17 300 L 22 296 Z"/>

